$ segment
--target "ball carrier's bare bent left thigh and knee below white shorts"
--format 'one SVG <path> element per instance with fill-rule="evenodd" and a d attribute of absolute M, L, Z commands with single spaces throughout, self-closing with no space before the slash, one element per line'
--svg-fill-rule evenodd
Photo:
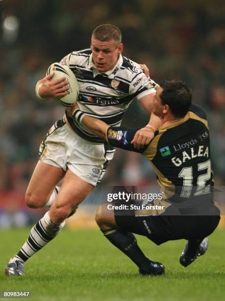
<path fill-rule="evenodd" d="M 38 161 L 25 196 L 27 206 L 50 207 L 60 190 L 56 185 L 63 179 L 64 174 L 62 168 Z"/>

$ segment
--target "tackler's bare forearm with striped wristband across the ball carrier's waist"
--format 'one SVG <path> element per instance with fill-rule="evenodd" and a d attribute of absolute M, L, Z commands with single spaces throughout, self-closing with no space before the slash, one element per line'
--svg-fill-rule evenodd
<path fill-rule="evenodd" d="M 109 127 L 108 124 L 106 124 L 105 122 L 90 117 L 88 115 L 85 115 L 84 113 L 82 113 L 80 110 L 76 110 L 73 113 L 73 118 L 75 120 L 77 120 L 78 122 L 82 123 L 83 125 L 85 125 L 87 128 L 89 128 L 94 134 L 96 134 L 96 136 L 107 140 L 106 139 L 106 133 L 107 133 L 107 129 Z"/>

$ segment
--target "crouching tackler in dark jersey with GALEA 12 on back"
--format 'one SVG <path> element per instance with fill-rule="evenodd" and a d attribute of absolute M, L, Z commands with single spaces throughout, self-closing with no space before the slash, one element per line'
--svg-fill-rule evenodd
<path fill-rule="evenodd" d="M 74 119 L 111 146 L 139 152 L 152 164 L 161 189 L 161 198 L 152 202 L 152 209 L 135 210 L 130 205 L 128 214 L 127 209 L 117 206 L 122 204 L 119 201 L 110 208 L 103 204 L 96 213 L 96 222 L 141 274 L 159 275 L 164 266 L 143 254 L 132 233 L 144 235 L 156 244 L 188 240 L 180 257 L 180 263 L 187 267 L 207 250 L 207 236 L 217 227 L 220 211 L 214 205 L 206 115 L 200 106 L 192 104 L 187 85 L 181 81 L 163 83 L 154 98 L 153 112 L 161 118 L 162 125 L 155 133 L 151 127 L 143 128 L 153 132 L 153 139 L 137 150 L 132 139 L 139 129 L 108 126 L 83 114 L 77 105 L 71 110 Z"/>

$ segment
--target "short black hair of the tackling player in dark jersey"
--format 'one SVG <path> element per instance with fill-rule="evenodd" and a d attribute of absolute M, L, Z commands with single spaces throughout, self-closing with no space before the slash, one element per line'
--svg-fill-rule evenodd
<path fill-rule="evenodd" d="M 162 104 L 167 104 L 173 116 L 183 118 L 192 104 L 192 93 L 182 81 L 164 81 L 160 95 Z"/>

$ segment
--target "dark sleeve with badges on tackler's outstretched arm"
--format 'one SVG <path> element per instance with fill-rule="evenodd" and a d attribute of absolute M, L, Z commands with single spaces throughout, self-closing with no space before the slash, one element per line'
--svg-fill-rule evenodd
<path fill-rule="evenodd" d="M 145 146 L 143 149 L 137 150 L 130 143 L 133 140 L 135 133 L 139 129 L 140 128 L 129 129 L 124 126 L 110 126 L 107 129 L 107 142 L 109 143 L 109 145 L 116 148 L 142 153 L 147 149 L 148 146 Z"/>

